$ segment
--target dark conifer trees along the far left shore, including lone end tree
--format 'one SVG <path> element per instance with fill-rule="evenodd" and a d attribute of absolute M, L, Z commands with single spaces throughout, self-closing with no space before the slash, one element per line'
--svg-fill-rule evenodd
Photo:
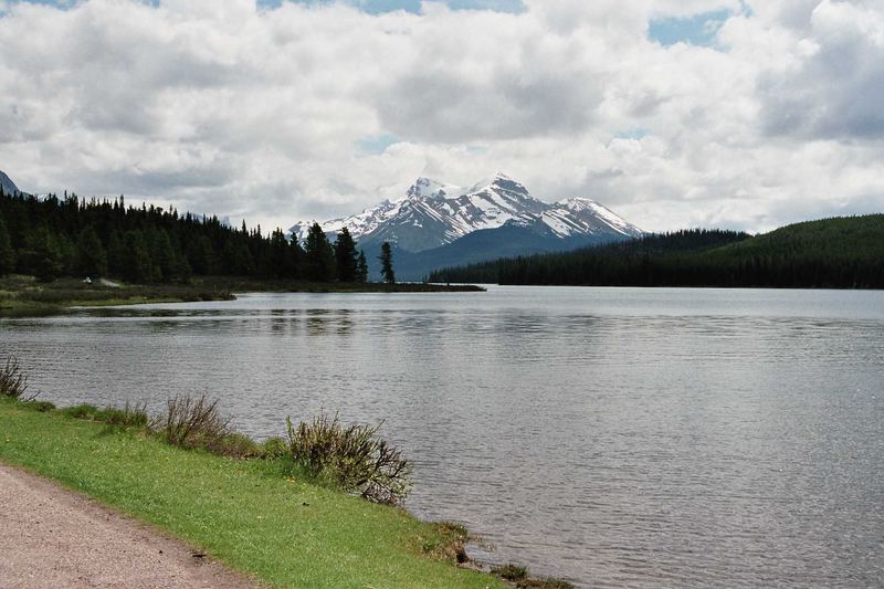
<path fill-rule="evenodd" d="M 389 248 L 388 248 L 389 250 Z M 383 256 L 382 256 L 383 257 Z M 392 255 L 380 260 L 393 282 Z M 347 229 L 330 242 L 314 223 L 304 243 L 282 229 L 228 227 L 175 208 L 126 206 L 76 194 L 7 194 L 0 188 L 0 275 L 114 276 L 133 283 L 186 282 L 192 275 L 367 282 L 369 266 Z"/>

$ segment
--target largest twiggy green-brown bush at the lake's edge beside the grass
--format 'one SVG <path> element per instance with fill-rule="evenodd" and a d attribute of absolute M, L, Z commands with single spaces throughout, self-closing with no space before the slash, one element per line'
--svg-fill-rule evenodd
<path fill-rule="evenodd" d="M 380 424 L 345 427 L 325 413 L 286 424 L 292 460 L 317 481 L 385 504 L 401 503 L 411 490 L 411 464 L 378 438 Z"/>

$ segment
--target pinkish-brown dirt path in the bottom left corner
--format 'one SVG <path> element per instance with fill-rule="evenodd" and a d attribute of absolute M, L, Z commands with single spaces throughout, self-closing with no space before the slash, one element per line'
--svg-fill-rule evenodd
<path fill-rule="evenodd" d="M 179 540 L 4 464 L 0 546 L 0 587 L 257 587 Z"/>

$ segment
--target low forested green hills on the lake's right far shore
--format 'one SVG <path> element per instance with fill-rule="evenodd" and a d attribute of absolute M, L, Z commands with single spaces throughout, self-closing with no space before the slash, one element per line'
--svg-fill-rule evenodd
<path fill-rule="evenodd" d="M 431 282 L 581 286 L 884 287 L 884 214 L 807 221 L 761 235 L 684 230 L 565 253 L 433 272 Z"/>

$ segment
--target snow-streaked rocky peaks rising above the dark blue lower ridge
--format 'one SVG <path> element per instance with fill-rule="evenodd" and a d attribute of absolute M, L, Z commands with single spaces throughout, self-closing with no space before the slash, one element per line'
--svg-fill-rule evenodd
<path fill-rule="evenodd" d="M 312 224 L 298 222 L 290 232 L 303 241 Z M 362 246 L 389 241 L 408 252 L 440 248 L 475 231 L 504 225 L 530 227 L 562 240 L 610 241 L 642 234 L 598 202 L 575 198 L 548 203 L 503 173 L 469 188 L 419 178 L 399 200 L 319 224 L 326 233 L 346 227 Z"/>

